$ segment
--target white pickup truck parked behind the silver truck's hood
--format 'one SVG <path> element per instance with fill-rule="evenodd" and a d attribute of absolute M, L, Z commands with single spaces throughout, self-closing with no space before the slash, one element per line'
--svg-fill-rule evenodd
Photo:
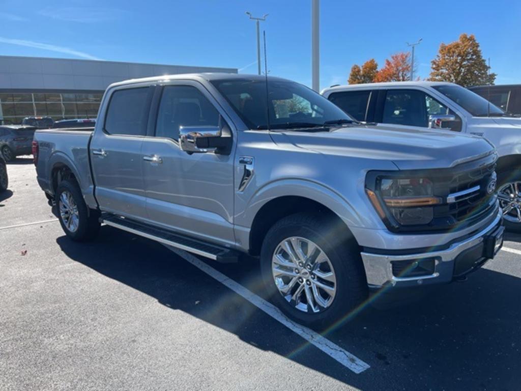
<path fill-rule="evenodd" d="M 521 233 L 521 118 L 453 83 L 338 85 L 321 93 L 351 117 L 382 128 L 433 128 L 485 137 L 499 154 L 498 196 L 505 226 Z"/>

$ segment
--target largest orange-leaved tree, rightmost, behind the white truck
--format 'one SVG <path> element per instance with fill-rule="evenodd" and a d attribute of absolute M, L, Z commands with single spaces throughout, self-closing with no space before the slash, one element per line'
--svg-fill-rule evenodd
<path fill-rule="evenodd" d="M 474 34 L 461 34 L 455 42 L 442 43 L 431 67 L 429 80 L 449 81 L 463 87 L 493 84 L 497 76 L 489 74 L 490 68 Z"/>

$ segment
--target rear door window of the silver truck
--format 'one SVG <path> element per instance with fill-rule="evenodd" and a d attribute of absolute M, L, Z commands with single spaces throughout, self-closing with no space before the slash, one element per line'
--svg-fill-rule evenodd
<path fill-rule="evenodd" d="M 148 87 L 115 91 L 110 97 L 105 132 L 109 135 L 144 136 L 148 119 Z"/>

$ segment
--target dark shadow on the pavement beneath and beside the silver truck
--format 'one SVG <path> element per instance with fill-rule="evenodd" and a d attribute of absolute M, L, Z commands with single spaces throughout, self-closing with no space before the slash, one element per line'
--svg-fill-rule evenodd
<path fill-rule="evenodd" d="M 168 308 L 358 389 L 485 390 L 521 384 L 521 279 L 511 275 L 482 269 L 466 283 L 439 287 L 417 302 L 387 310 L 368 305 L 349 323 L 331 328 L 327 338 L 371 365 L 355 375 L 156 242 L 108 226 L 90 243 L 65 236 L 56 241 L 70 259 Z M 210 264 L 262 296 L 256 262 Z"/>

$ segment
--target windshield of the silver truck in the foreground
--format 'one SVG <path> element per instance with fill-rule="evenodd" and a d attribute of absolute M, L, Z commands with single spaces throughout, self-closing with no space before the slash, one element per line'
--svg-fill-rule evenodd
<path fill-rule="evenodd" d="M 264 80 L 232 79 L 212 83 L 250 129 L 267 129 Z M 268 96 L 271 129 L 311 128 L 354 121 L 339 107 L 299 83 L 268 79 Z"/>

